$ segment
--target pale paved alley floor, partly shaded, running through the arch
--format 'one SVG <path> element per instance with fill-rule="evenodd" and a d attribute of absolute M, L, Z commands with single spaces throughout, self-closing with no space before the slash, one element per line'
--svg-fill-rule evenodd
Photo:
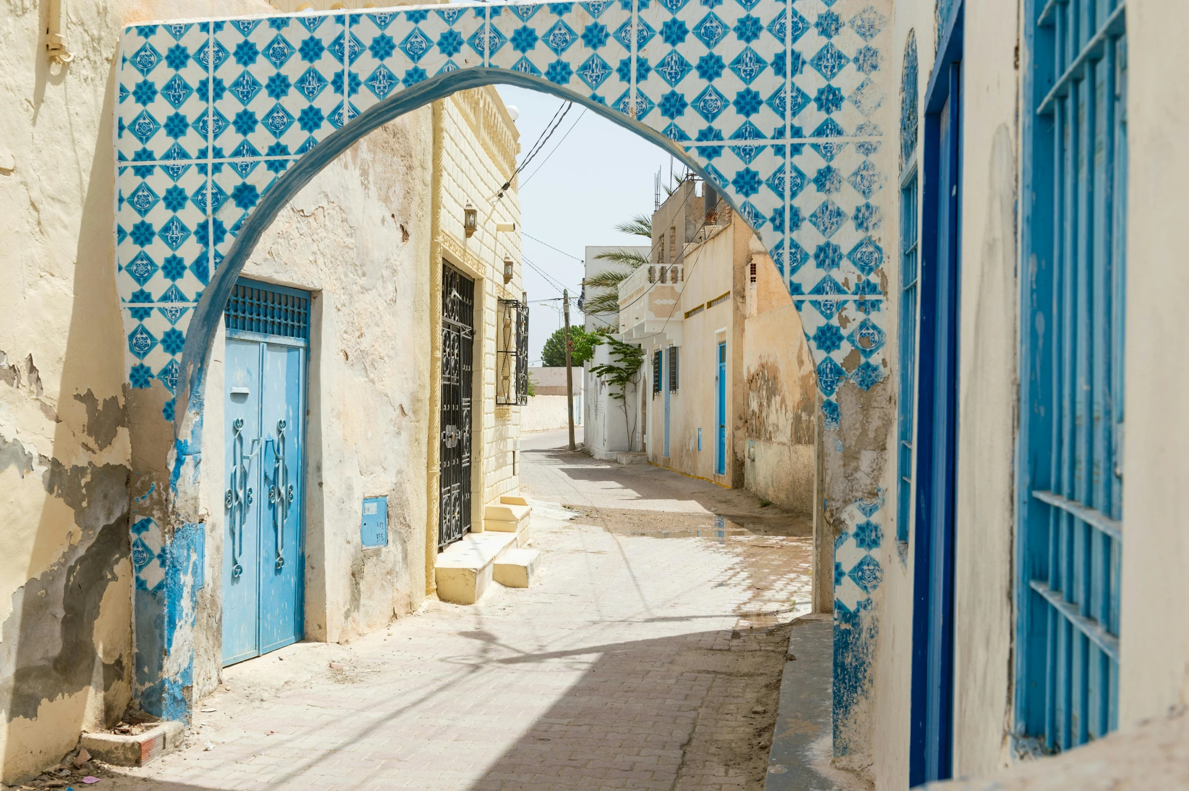
<path fill-rule="evenodd" d="M 227 667 L 100 789 L 762 789 L 810 523 L 564 445 L 522 443 L 539 584 Z"/>

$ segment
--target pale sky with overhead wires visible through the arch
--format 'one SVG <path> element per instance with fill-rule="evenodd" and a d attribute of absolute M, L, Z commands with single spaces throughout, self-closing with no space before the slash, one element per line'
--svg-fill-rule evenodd
<path fill-rule="evenodd" d="M 522 162 L 565 101 L 511 86 L 498 86 L 498 90 L 505 105 L 520 110 L 517 162 Z M 617 232 L 615 226 L 635 214 L 653 213 L 653 179 L 658 169 L 668 179 L 669 162 L 669 154 L 656 145 L 574 105 L 521 173 L 521 266 L 530 309 L 528 354 L 533 365 L 540 365 L 541 347 L 561 327 L 561 289 L 528 262 L 570 289 L 570 321 L 580 324 L 575 300 L 581 290 L 585 247 L 648 243 Z M 677 162 L 673 167 L 684 170 Z M 548 306 L 539 304 L 545 300 L 552 302 Z"/>

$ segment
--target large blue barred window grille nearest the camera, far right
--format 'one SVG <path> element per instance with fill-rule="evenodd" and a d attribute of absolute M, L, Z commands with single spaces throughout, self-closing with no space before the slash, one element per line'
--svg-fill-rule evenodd
<path fill-rule="evenodd" d="M 1122 0 L 1033 0 L 1025 78 L 1019 749 L 1118 726 L 1127 50 Z"/>

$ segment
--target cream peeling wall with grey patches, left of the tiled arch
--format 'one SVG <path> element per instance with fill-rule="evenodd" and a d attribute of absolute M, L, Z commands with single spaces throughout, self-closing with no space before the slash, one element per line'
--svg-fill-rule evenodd
<path fill-rule="evenodd" d="M 213 2 L 45 4 L 0 20 L 0 779 L 119 717 L 132 671 L 130 430 L 114 289 L 113 58 L 136 19 Z M 226 4 L 220 4 L 226 5 Z M 258 8 L 263 4 L 241 2 Z"/>

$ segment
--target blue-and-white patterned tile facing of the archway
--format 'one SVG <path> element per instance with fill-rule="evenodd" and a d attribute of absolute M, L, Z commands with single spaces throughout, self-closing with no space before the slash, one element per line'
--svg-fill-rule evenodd
<path fill-rule="evenodd" d="M 718 186 L 800 308 L 825 425 L 837 428 L 843 382 L 867 391 L 886 369 L 886 27 L 867 0 L 404 6 L 130 26 L 115 139 L 128 381 L 175 394 L 163 420 L 181 423 L 175 401 L 200 411 L 222 308 L 284 204 L 385 121 L 511 83 L 583 103 Z"/>

